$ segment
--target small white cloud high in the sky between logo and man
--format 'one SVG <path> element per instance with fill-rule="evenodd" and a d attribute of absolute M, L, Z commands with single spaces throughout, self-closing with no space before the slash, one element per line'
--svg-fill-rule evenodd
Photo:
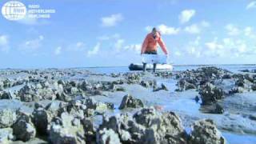
<path fill-rule="evenodd" d="M 122 14 L 112 14 L 108 17 L 101 18 L 102 20 L 102 26 L 110 27 L 110 26 L 116 26 L 118 22 L 122 22 L 123 16 Z"/>

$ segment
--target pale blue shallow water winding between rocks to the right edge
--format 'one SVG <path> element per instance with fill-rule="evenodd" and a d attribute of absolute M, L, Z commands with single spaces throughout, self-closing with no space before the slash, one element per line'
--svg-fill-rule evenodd
<path fill-rule="evenodd" d="M 194 121 L 202 118 L 211 118 L 217 124 L 218 129 L 225 134 L 223 135 L 230 144 L 245 142 L 255 143 L 256 135 L 253 135 L 252 133 L 254 132 L 250 131 L 250 129 L 255 126 L 255 122 L 250 121 L 249 118 L 244 118 L 241 114 L 234 114 L 230 109 L 226 109 L 224 114 L 203 114 L 199 110 L 201 101 L 195 102 L 194 100 L 194 97 L 198 95 L 198 91 L 186 90 L 183 92 L 175 92 L 174 90 L 177 86 L 175 86 L 176 81 L 174 79 L 159 79 L 158 84 L 160 85 L 162 82 L 166 84 L 169 89 L 168 92 L 160 90 L 152 93 L 152 89 L 145 89 L 139 85 L 127 85 L 126 90 L 134 97 L 142 99 L 146 106 L 161 106 L 164 111 L 174 111 L 182 119 L 182 124 L 186 128 L 186 131 L 190 130 L 190 125 Z M 111 111 L 110 114 L 120 114 L 122 112 L 134 113 L 133 110 L 118 110 L 118 106 L 124 94 L 126 93 L 120 92 L 118 94 L 110 94 L 108 97 L 101 96 L 94 98 L 101 102 L 114 102 L 115 109 Z M 227 106 L 230 105 L 228 100 L 229 98 L 227 102 L 224 101 Z M 240 113 L 241 112 L 243 111 L 240 111 Z M 232 130 L 232 125 L 234 125 L 234 130 Z M 246 129 L 250 134 L 243 134 L 243 132 L 239 131 L 240 129 Z M 254 128 L 251 130 L 254 130 Z"/>

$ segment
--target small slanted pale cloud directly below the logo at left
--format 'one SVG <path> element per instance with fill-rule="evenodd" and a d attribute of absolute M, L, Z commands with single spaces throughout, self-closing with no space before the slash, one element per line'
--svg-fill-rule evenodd
<path fill-rule="evenodd" d="M 19 47 L 19 50 L 21 50 L 22 52 L 32 52 L 34 50 L 37 50 L 39 47 L 42 46 L 43 40 L 44 37 L 42 35 L 39 35 L 38 38 L 23 42 L 22 45 Z"/>

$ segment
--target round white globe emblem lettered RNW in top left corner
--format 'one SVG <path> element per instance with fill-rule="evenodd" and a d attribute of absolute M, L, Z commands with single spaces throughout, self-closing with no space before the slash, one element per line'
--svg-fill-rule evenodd
<path fill-rule="evenodd" d="M 6 2 L 2 6 L 2 15 L 10 21 L 20 20 L 26 17 L 26 6 L 18 1 Z"/>

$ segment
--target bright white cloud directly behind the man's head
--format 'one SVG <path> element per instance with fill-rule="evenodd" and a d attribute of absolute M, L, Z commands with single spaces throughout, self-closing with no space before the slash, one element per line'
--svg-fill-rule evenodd
<path fill-rule="evenodd" d="M 150 32 L 153 29 L 153 26 L 146 26 L 145 30 L 147 32 Z M 164 24 L 158 25 L 157 29 L 160 31 L 160 33 L 162 35 L 174 35 L 174 34 L 178 34 L 180 29 L 179 28 L 175 28 L 175 27 L 171 27 L 171 26 L 166 26 Z"/>

